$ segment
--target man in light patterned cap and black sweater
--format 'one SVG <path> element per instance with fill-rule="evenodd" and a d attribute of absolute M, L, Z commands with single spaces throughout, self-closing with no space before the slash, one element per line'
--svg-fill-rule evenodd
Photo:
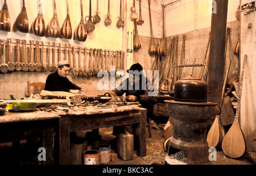
<path fill-rule="evenodd" d="M 60 61 L 57 63 L 58 70 L 49 74 L 46 79 L 46 91 L 64 91 L 70 93 L 84 93 L 86 90 L 73 84 L 67 78 L 70 65 L 68 61 Z"/>

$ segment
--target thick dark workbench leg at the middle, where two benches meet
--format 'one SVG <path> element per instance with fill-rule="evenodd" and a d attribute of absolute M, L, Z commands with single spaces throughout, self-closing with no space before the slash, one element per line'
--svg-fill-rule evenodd
<path fill-rule="evenodd" d="M 59 146 L 60 146 L 60 164 L 69 164 L 69 118 L 59 118 Z"/>

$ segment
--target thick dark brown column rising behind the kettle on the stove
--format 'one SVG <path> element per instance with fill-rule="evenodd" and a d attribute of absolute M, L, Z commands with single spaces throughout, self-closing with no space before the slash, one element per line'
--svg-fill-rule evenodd
<path fill-rule="evenodd" d="M 228 0 L 213 1 L 212 24 L 210 29 L 210 55 L 208 65 L 208 101 L 220 105 L 225 71 L 225 39 Z M 216 3 L 215 3 L 216 2 Z"/>

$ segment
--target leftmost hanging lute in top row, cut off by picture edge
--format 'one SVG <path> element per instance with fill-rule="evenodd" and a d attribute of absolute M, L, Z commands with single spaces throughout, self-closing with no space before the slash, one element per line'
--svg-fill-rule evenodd
<path fill-rule="evenodd" d="M 2 10 L 0 11 L 0 30 L 7 32 L 11 31 L 10 14 L 6 0 L 5 3 L 3 3 Z"/>

